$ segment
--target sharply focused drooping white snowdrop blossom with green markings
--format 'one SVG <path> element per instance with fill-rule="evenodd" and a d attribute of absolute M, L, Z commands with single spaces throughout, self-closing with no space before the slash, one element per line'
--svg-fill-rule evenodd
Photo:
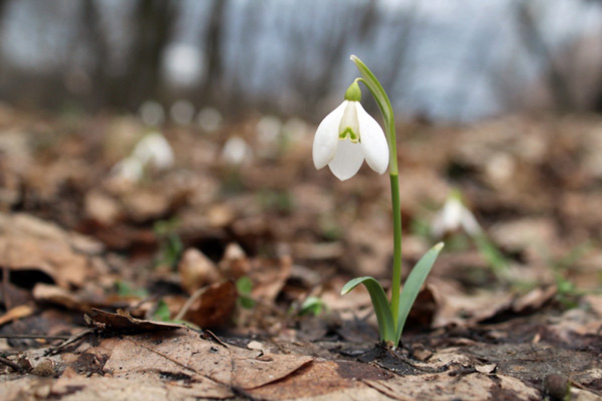
<path fill-rule="evenodd" d="M 330 112 L 315 132 L 312 156 L 317 170 L 328 165 L 341 181 L 355 176 L 364 159 L 379 174 L 389 163 L 389 147 L 380 125 L 362 105 L 361 91 L 353 82 L 345 100 Z"/>

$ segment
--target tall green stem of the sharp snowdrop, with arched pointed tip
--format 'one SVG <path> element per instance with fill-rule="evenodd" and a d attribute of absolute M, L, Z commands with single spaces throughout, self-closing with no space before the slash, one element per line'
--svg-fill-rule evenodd
<path fill-rule="evenodd" d="M 376 76 L 362 63 L 359 58 L 352 55 L 351 60 L 358 67 L 362 78 L 370 93 L 379 106 L 382 118 L 385 122 L 386 141 L 389 145 L 389 176 L 391 180 L 391 203 L 393 206 L 393 281 L 391 282 L 391 310 L 393 312 L 394 325 L 397 329 L 397 312 L 399 311 L 399 293 L 402 281 L 402 213 L 399 205 L 399 170 L 397 169 L 397 139 L 395 133 L 395 118 L 389 97 Z"/>

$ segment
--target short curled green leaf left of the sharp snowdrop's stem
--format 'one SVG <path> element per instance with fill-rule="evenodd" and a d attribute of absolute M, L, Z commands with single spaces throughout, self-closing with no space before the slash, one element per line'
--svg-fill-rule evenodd
<path fill-rule="evenodd" d="M 380 333 L 380 340 L 395 343 L 395 323 L 393 322 L 393 313 L 391 312 L 391 305 L 389 300 L 386 298 L 385 290 L 378 281 L 372 277 L 358 277 L 350 280 L 343 286 L 341 295 L 353 290 L 359 284 L 364 284 L 368 293 L 370 293 L 370 299 L 376 313 L 376 319 L 378 320 L 378 328 Z M 396 343 L 394 346 L 397 345 Z"/>

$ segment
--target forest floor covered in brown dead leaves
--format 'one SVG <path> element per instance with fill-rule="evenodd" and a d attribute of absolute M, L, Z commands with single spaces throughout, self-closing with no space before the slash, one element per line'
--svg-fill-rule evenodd
<path fill-rule="evenodd" d="M 132 182 L 135 118 L 0 109 L 0 399 L 602 399 L 602 118 L 399 126 L 404 277 L 453 188 L 489 242 L 447 233 L 396 350 L 339 295 L 389 286 L 388 177 L 314 129 L 166 126 Z"/>

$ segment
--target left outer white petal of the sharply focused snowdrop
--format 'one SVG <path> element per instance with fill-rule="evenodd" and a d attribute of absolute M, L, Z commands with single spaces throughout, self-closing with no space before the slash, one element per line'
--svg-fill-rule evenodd
<path fill-rule="evenodd" d="M 341 118 L 345 108 L 349 103 L 345 100 L 336 109 L 331 111 L 324 120 L 318 125 L 315 131 L 314 147 L 312 148 L 312 158 L 314 166 L 317 170 L 329 164 L 337 152 L 338 145 L 338 126 L 341 123 Z"/>

